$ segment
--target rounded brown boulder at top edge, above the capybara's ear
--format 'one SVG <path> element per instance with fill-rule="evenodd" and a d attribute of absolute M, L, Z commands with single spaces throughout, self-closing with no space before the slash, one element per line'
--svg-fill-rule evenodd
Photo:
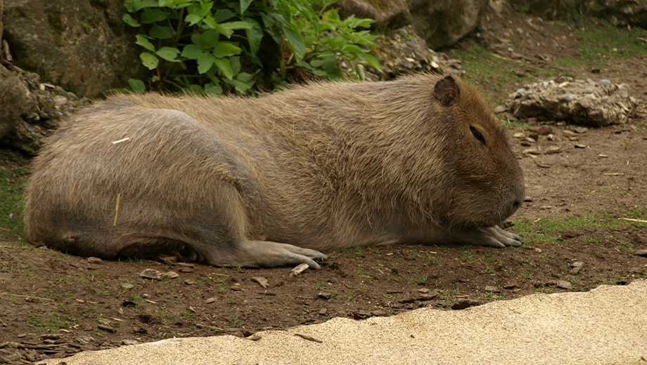
<path fill-rule="evenodd" d="M 407 0 L 416 33 L 430 48 L 451 46 L 478 25 L 488 0 Z"/>

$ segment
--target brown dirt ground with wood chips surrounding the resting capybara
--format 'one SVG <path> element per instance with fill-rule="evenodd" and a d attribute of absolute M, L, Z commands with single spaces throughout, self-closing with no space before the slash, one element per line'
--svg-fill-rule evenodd
<path fill-rule="evenodd" d="M 466 78 L 478 82 L 489 100 L 500 103 L 527 80 L 536 81 L 547 69 L 558 69 L 556 76 L 627 83 L 636 98 L 647 102 L 644 55 L 615 58 L 611 65 L 556 66 L 560 59 L 581 55 L 573 32 L 577 27 L 601 26 L 594 20 L 568 25 L 520 14 L 487 16 L 492 26 L 459 45 L 457 54 L 485 44 L 497 60 L 519 60 L 520 54 L 525 60 L 510 62 L 516 67 L 512 71 L 501 70 L 518 78 L 495 74 L 489 79 L 470 75 L 470 60 L 463 60 Z M 532 41 L 518 32 L 528 29 L 530 22 Z M 553 61 L 546 62 L 547 58 Z M 494 79 L 497 82 L 489 82 Z M 517 225 L 511 228 L 524 236 L 520 248 L 349 248 L 328 253 L 321 270 L 292 277 L 289 267 L 249 270 L 172 260 L 79 258 L 22 244 L 11 238 L 10 228 L 2 227 L 0 234 L 7 238 L 0 243 L 0 364 L 25 364 L 162 338 L 253 336 L 259 330 L 331 317 L 364 319 L 418 307 L 449 309 L 647 279 L 647 258 L 635 254 L 647 248 L 647 225 L 618 219 L 646 219 L 646 117 L 624 126 L 589 128 L 580 133 L 577 143 L 587 145 L 582 149 L 561 137 L 572 126 L 554 122 L 550 126 L 557 139 L 542 136 L 537 145 L 544 150 L 558 145 L 561 153 L 522 157 L 526 147 L 511 138 L 527 186 L 525 205 L 513 216 Z M 509 132 L 527 133 L 527 128 L 515 124 Z M 5 157 L 0 162 L 4 170 L 25 163 Z M 582 263 L 579 269 L 572 265 L 576 262 Z M 140 277 L 151 269 L 174 274 L 161 280 Z"/>

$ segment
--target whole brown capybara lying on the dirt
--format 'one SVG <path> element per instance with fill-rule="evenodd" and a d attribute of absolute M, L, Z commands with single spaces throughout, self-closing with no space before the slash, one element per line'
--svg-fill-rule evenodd
<path fill-rule="evenodd" d="M 115 258 L 276 267 L 347 246 L 519 246 L 506 133 L 456 77 L 322 82 L 258 98 L 113 95 L 32 164 L 27 240 Z"/>

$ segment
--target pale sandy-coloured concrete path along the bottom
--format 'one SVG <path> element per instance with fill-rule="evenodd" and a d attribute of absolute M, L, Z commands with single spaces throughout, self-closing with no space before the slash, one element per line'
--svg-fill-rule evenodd
<path fill-rule="evenodd" d="M 536 294 L 460 311 L 423 308 L 364 321 L 336 318 L 257 334 L 262 337 L 258 341 L 233 336 L 169 339 L 82 352 L 63 361 L 68 365 L 647 365 L 647 281 L 600 286 L 585 293 Z"/>

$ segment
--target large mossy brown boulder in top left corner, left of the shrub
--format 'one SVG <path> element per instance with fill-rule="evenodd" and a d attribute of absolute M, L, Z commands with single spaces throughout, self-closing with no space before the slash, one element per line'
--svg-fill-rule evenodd
<path fill-rule="evenodd" d="M 18 67 L 94 97 L 123 87 L 141 69 L 124 12 L 123 0 L 8 1 L 4 39 Z"/>

